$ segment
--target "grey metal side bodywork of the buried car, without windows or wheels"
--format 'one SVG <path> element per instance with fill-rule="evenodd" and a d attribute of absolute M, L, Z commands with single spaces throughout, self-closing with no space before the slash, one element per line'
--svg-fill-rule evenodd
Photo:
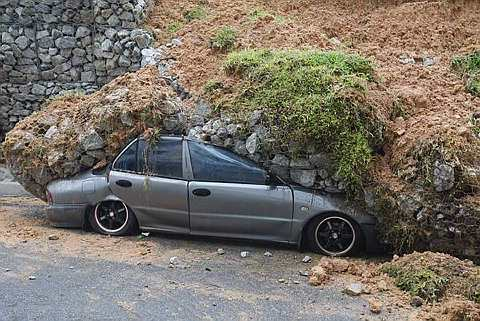
<path fill-rule="evenodd" d="M 252 185 L 195 181 L 188 144 L 183 144 L 182 179 L 106 170 L 87 171 L 50 183 L 53 204 L 47 213 L 53 225 L 82 227 L 86 212 L 103 200 L 130 206 L 142 230 L 218 237 L 261 239 L 300 244 L 314 217 L 340 213 L 362 229 L 367 249 L 378 248 L 376 219 L 344 196 L 288 184 Z M 120 153 L 121 154 L 121 153 Z M 128 180 L 131 187 L 118 186 Z M 193 195 L 208 189 L 208 197 Z"/>

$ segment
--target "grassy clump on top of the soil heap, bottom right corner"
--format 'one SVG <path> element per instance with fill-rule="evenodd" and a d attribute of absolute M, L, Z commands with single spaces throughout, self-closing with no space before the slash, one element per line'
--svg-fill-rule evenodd
<path fill-rule="evenodd" d="M 385 263 L 381 271 L 394 278 L 400 289 L 430 302 L 449 295 L 480 302 L 480 267 L 468 260 L 414 252 Z"/>

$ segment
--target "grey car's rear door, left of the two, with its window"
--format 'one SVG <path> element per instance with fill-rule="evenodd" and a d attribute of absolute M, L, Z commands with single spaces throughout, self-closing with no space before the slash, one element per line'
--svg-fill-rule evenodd
<path fill-rule="evenodd" d="M 138 213 L 133 209 L 142 229 L 190 232 L 183 159 L 182 138 L 162 137 L 154 143 L 140 139 L 137 163 L 142 174 L 114 173 L 116 180 L 131 180 L 131 187 L 111 186 L 128 205 L 136 205 Z"/>

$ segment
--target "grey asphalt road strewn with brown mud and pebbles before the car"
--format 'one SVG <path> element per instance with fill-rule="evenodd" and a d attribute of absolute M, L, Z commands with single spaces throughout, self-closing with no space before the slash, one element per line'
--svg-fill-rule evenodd
<path fill-rule="evenodd" d="M 44 203 L 4 196 L 0 321 L 407 319 L 394 305 L 373 314 L 368 296 L 342 293 L 347 279 L 310 286 L 302 274 L 319 258 L 271 243 L 55 229 Z"/>

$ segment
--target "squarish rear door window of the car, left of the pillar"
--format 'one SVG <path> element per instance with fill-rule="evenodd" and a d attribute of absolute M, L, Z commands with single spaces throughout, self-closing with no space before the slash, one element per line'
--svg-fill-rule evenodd
<path fill-rule="evenodd" d="M 147 144 L 145 172 L 162 177 L 183 178 L 182 140 L 162 138 Z"/>

